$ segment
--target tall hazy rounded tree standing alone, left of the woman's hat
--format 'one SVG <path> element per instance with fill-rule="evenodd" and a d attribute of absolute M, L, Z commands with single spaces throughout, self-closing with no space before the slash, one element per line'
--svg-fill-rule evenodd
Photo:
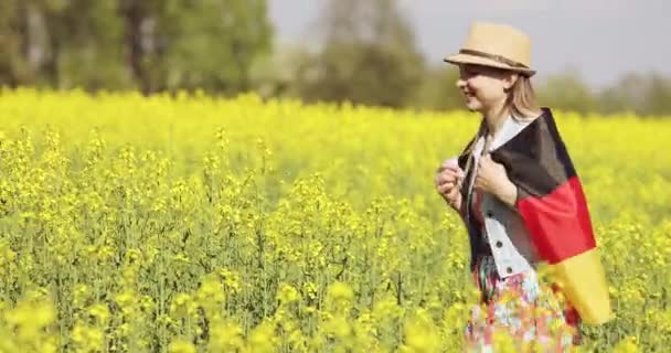
<path fill-rule="evenodd" d="M 322 12 L 324 45 L 297 85 L 307 100 L 401 107 L 424 74 L 413 29 L 394 0 L 331 0 Z"/>

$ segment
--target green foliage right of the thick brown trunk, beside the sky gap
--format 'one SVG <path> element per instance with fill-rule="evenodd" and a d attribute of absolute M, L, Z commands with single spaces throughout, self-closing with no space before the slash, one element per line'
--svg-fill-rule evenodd
<path fill-rule="evenodd" d="M 265 1 L 160 3 L 155 40 L 163 47 L 148 55 L 158 65 L 152 72 L 152 90 L 235 93 L 251 88 L 252 64 L 270 49 Z"/>

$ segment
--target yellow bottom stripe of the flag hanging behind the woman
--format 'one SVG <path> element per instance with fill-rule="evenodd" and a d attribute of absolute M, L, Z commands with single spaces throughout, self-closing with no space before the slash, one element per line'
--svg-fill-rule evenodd
<path fill-rule="evenodd" d="M 613 319 L 606 275 L 598 248 L 550 266 L 568 302 L 581 314 L 583 323 L 599 325 Z"/>

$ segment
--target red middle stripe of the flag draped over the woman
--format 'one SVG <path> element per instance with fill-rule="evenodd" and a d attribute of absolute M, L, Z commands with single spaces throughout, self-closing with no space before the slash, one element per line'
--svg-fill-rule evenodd
<path fill-rule="evenodd" d="M 539 255 L 550 264 L 596 247 L 587 202 L 577 176 L 545 196 L 520 200 L 518 210 Z"/>

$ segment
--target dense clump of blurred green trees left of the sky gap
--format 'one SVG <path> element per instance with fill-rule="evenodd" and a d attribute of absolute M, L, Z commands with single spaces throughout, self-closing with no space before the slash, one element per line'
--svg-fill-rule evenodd
<path fill-rule="evenodd" d="M 264 0 L 3 0 L 0 84 L 232 94 L 270 36 Z"/>

